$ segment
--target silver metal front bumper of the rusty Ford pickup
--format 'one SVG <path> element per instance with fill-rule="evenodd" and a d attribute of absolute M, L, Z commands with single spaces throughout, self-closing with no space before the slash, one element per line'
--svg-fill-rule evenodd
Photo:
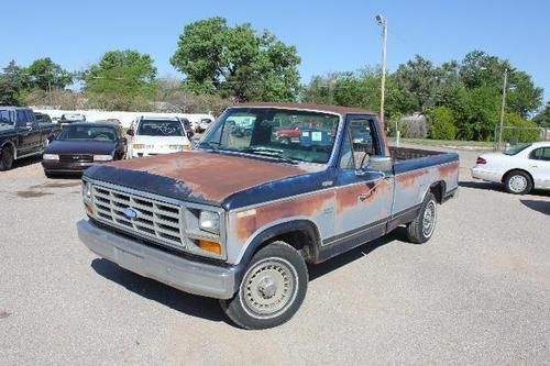
<path fill-rule="evenodd" d="M 79 221 L 77 230 L 91 252 L 143 277 L 216 299 L 230 299 L 237 291 L 237 266 L 186 259 L 102 230 L 88 220 Z"/>

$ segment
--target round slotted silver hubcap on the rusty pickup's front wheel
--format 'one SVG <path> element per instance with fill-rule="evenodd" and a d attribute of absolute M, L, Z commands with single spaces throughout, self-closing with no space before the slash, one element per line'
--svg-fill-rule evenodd
<path fill-rule="evenodd" d="M 241 285 L 246 312 L 260 319 L 283 313 L 296 297 L 297 273 L 283 258 L 266 258 L 251 267 Z"/>

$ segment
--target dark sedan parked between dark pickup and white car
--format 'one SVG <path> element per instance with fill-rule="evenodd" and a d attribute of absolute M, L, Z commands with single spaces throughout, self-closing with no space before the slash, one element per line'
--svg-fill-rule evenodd
<path fill-rule="evenodd" d="M 94 164 L 124 158 L 122 127 L 109 122 L 81 122 L 65 126 L 42 156 L 46 177 L 81 173 Z"/>

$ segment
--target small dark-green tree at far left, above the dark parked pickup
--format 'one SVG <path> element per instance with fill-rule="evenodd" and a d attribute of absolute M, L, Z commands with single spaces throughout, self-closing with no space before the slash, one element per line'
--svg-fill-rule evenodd
<path fill-rule="evenodd" d="M 73 82 L 73 76 L 55 64 L 50 57 L 38 58 L 25 70 L 26 89 L 65 89 Z"/>

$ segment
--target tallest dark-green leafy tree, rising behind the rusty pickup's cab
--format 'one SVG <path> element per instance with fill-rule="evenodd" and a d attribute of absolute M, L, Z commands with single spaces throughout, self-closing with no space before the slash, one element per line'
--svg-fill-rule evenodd
<path fill-rule="evenodd" d="M 172 65 L 186 75 L 185 87 L 238 101 L 293 101 L 299 92 L 295 46 L 250 24 L 233 27 L 223 18 L 188 24 L 179 36 Z"/>

